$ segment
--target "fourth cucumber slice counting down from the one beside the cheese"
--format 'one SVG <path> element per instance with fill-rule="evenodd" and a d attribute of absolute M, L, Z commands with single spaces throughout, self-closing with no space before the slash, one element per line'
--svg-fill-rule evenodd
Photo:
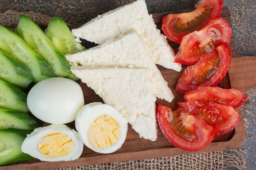
<path fill-rule="evenodd" d="M 0 50 L 0 78 L 20 88 L 27 88 L 33 82 L 29 68 L 2 50 Z"/>

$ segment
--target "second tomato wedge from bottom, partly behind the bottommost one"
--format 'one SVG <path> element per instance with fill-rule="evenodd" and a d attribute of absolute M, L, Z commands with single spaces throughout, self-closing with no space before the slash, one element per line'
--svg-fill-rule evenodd
<path fill-rule="evenodd" d="M 238 112 L 225 104 L 209 102 L 202 107 L 195 108 L 189 102 L 184 102 L 179 103 L 178 107 L 186 108 L 191 115 L 200 115 L 205 123 L 216 128 L 218 135 L 233 130 L 240 121 Z"/>

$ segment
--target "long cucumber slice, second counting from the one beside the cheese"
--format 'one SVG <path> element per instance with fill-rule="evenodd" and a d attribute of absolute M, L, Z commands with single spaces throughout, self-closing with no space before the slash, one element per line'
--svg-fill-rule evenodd
<path fill-rule="evenodd" d="M 26 15 L 20 15 L 20 20 L 15 31 L 29 46 L 49 62 L 56 76 L 65 77 L 71 74 L 70 65 L 66 57 L 54 46 L 33 20 Z"/>

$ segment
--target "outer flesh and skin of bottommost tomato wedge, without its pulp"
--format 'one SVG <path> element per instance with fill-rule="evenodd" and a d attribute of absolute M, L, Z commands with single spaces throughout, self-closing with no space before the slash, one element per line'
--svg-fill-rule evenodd
<path fill-rule="evenodd" d="M 168 121 L 168 119 L 166 118 L 166 113 L 171 113 L 171 109 L 163 106 L 162 104 L 159 104 L 157 108 L 157 119 L 159 127 L 162 130 L 166 139 L 177 148 L 188 151 L 200 150 L 210 144 L 216 135 L 216 129 L 212 126 L 207 125 L 202 117 L 198 115 L 189 115 L 186 109 L 182 110 L 182 112 L 189 116 L 189 122 L 195 128 L 195 133 L 198 136 L 198 140 L 189 141 L 177 134 L 176 130 L 173 129 L 175 127 L 172 127 L 170 121 Z"/>

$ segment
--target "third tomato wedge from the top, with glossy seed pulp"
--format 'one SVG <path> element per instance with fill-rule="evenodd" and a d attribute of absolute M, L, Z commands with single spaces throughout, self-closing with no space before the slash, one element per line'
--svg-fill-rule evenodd
<path fill-rule="evenodd" d="M 175 91 L 185 93 L 202 86 L 216 86 L 226 75 L 231 62 L 228 44 L 206 53 L 197 64 L 188 66 L 180 77 Z"/>

